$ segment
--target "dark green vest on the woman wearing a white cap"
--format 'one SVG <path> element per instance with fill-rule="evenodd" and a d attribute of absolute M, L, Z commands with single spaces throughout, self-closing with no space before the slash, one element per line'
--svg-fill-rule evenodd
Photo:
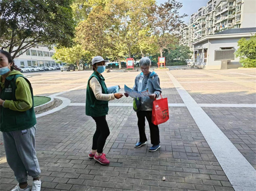
<path fill-rule="evenodd" d="M 92 77 L 96 77 L 98 82 L 101 84 L 102 94 L 107 94 L 108 88 L 105 84 L 105 79 L 103 76 L 100 76 L 96 71 L 89 77 L 87 89 L 86 89 L 86 106 L 85 114 L 92 117 L 100 117 L 108 115 L 108 101 L 97 100 L 94 96 L 93 90 L 89 86 L 89 82 Z"/>

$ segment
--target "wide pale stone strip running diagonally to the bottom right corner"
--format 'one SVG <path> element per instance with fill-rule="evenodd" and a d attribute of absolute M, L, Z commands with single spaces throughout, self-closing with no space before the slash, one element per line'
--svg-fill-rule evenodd
<path fill-rule="evenodd" d="M 169 71 L 167 74 L 235 191 L 253 191 L 256 188 L 256 170 L 175 77 Z"/>

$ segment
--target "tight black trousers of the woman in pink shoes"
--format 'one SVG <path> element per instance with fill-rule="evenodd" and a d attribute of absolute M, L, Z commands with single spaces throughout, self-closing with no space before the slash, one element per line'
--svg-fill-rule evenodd
<path fill-rule="evenodd" d="M 92 117 L 96 122 L 96 131 L 93 137 L 93 150 L 97 150 L 98 153 L 103 152 L 103 147 L 106 143 L 106 139 L 110 134 L 108 123 L 106 121 L 106 115 L 100 117 Z"/>

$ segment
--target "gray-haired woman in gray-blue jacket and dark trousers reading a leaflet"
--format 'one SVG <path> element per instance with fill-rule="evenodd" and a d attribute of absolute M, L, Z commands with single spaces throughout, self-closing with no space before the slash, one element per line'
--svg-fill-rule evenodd
<path fill-rule="evenodd" d="M 162 90 L 160 87 L 160 80 L 158 75 L 154 71 L 149 71 L 151 60 L 148 57 L 143 57 L 141 58 L 139 64 L 141 67 L 141 73 L 136 76 L 133 89 L 135 91 L 148 89 L 152 94 L 148 97 L 141 97 L 141 108 L 137 112 L 140 141 L 136 143 L 135 147 L 138 148 L 147 144 L 147 137 L 145 134 L 146 117 L 150 129 L 151 144 L 153 145 L 149 148 L 149 151 L 154 152 L 160 148 L 160 137 L 158 126 L 152 123 L 152 108 L 154 99 L 160 96 Z M 129 96 L 127 93 L 124 95 L 126 97 Z"/>

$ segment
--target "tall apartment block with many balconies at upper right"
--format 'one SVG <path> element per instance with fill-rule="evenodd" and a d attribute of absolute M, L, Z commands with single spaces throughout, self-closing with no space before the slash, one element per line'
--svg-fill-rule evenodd
<path fill-rule="evenodd" d="M 189 25 L 182 30 L 181 44 L 194 51 L 192 44 L 207 35 L 255 26 L 256 0 L 209 0 L 190 15 Z"/>

